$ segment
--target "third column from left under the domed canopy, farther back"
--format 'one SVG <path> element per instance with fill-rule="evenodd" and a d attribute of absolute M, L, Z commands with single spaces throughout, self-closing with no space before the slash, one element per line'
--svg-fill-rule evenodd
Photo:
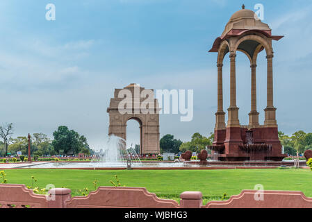
<path fill-rule="evenodd" d="M 252 68 L 252 96 L 251 96 L 251 110 L 249 112 L 249 126 L 259 126 L 259 113 L 256 111 L 256 64 L 250 66 Z"/>

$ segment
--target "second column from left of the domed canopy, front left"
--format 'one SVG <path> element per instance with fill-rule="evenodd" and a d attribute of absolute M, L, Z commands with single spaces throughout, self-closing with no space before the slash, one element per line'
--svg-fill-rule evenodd
<path fill-rule="evenodd" d="M 231 68 L 230 68 L 230 106 L 227 109 L 229 119 L 227 127 L 240 127 L 238 120 L 238 107 L 236 106 L 236 53 L 230 53 Z"/>

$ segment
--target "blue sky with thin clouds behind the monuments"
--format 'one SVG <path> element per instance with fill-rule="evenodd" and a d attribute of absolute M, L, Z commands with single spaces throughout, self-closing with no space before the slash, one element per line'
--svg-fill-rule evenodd
<path fill-rule="evenodd" d="M 54 3 L 56 21 L 45 6 Z M 2 0 L 0 2 L 1 123 L 15 137 L 52 133 L 66 125 L 100 148 L 108 134 L 106 108 L 114 88 L 194 89 L 194 118 L 160 117 L 161 136 L 183 141 L 213 132 L 217 110 L 216 53 L 208 53 L 231 15 L 264 6 L 273 35 L 274 106 L 279 130 L 312 132 L 310 110 L 312 1 Z M 266 105 L 265 55 L 258 57 L 260 122 Z M 250 110 L 250 68 L 237 56 L 240 123 Z M 224 61 L 224 110 L 229 107 L 229 58 Z M 139 141 L 129 121 L 129 144 Z"/>

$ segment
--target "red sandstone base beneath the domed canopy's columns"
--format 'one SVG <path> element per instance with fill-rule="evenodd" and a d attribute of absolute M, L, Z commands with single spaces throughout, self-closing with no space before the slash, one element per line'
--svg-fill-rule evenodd
<path fill-rule="evenodd" d="M 286 154 L 281 152 L 277 128 L 230 127 L 215 130 L 215 141 L 211 149 L 212 160 L 220 161 L 281 161 Z"/>

